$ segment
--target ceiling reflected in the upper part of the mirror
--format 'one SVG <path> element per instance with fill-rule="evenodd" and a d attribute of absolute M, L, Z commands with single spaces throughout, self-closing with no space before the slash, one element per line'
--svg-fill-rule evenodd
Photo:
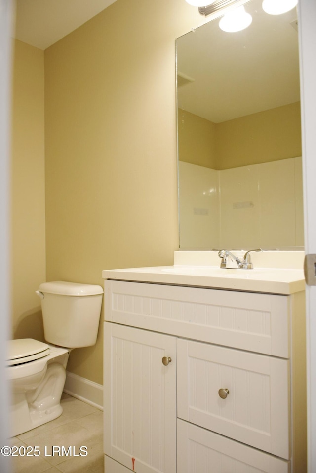
<path fill-rule="evenodd" d="M 216 123 L 300 100 L 296 10 L 274 17 L 261 3 L 247 3 L 242 32 L 215 19 L 177 39 L 177 73 L 191 81 L 178 88 L 179 108 Z"/>

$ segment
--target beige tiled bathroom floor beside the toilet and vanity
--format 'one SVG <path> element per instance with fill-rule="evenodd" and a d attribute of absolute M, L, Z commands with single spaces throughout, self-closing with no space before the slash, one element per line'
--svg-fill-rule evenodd
<path fill-rule="evenodd" d="M 12 458 L 12 473 L 104 473 L 103 412 L 68 394 L 63 394 L 61 404 L 60 417 L 10 439 L 10 446 L 31 445 L 40 451 L 39 456 Z M 64 455 L 62 448 L 60 454 L 55 448 L 53 455 L 53 446 L 65 447 Z M 65 455 L 69 446 L 74 447 L 72 456 Z M 80 456 L 82 446 L 87 447 L 81 450 L 86 456 Z"/>

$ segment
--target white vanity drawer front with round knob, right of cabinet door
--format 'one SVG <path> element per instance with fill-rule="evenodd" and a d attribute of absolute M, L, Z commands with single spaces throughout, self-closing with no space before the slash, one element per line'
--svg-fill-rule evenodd
<path fill-rule="evenodd" d="M 288 360 L 177 340 L 177 393 L 181 419 L 290 458 Z"/>

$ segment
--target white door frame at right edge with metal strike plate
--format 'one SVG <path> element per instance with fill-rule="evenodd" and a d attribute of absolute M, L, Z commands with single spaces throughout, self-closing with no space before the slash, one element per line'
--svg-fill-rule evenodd
<path fill-rule="evenodd" d="M 301 120 L 305 253 L 316 253 L 316 1 L 300 0 Z M 306 286 L 308 472 L 316 471 L 316 286 Z"/>

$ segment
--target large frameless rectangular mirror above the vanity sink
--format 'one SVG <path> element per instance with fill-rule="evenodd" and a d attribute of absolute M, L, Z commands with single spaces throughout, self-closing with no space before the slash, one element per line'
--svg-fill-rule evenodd
<path fill-rule="evenodd" d="M 181 249 L 304 245 L 297 12 L 176 40 Z"/>

